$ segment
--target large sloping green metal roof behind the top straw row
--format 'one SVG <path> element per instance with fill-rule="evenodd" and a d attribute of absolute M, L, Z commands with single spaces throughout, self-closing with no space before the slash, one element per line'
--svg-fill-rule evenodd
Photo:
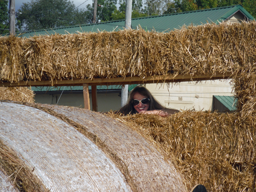
<path fill-rule="evenodd" d="M 207 22 L 218 23 L 226 20 L 236 12 L 241 12 L 250 20 L 254 17 L 250 15 L 241 5 L 218 7 L 212 9 L 201 9 L 190 12 L 181 12 L 169 15 L 157 15 L 151 17 L 133 18 L 131 20 L 132 29 L 137 29 L 140 26 L 145 30 L 156 30 L 164 32 L 173 29 L 179 29 L 183 25 L 201 25 Z M 115 20 L 102 23 L 85 24 L 80 26 L 67 26 L 55 29 L 42 29 L 31 32 L 26 32 L 21 37 L 30 37 L 34 35 L 51 35 L 51 34 L 68 34 L 77 32 L 97 32 L 97 31 L 113 31 L 124 29 L 125 20 Z"/>

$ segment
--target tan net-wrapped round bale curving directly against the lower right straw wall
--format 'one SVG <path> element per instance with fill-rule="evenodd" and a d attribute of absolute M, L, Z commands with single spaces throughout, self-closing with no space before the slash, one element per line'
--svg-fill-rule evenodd
<path fill-rule="evenodd" d="M 137 191 L 185 192 L 180 175 L 157 149 L 131 128 L 101 113 L 58 105 L 40 105 L 83 125 L 124 162 Z M 50 113 L 50 112 L 49 112 Z"/>

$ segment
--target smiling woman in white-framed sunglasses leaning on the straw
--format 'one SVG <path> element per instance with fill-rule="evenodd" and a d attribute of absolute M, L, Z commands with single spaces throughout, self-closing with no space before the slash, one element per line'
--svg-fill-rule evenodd
<path fill-rule="evenodd" d="M 160 105 L 159 102 L 157 102 L 156 99 L 154 99 L 154 97 L 145 87 L 137 86 L 131 91 L 128 103 L 123 106 L 118 112 L 124 115 L 127 115 L 129 113 L 145 113 L 157 114 L 165 117 L 179 111 L 163 107 L 162 105 Z"/>

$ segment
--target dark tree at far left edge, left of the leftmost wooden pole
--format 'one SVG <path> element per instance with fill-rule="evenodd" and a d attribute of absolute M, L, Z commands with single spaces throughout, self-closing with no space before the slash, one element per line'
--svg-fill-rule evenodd
<path fill-rule="evenodd" d="M 8 0 L 0 0 L 0 34 L 9 32 Z M 7 30 L 5 30 L 7 28 Z"/>

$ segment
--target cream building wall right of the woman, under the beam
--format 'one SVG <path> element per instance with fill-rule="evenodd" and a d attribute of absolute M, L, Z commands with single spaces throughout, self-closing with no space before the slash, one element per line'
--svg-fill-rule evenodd
<path fill-rule="evenodd" d="M 211 110 L 212 96 L 233 96 L 230 80 L 181 82 L 179 84 L 146 84 L 145 87 L 166 108 L 178 110 Z"/>

